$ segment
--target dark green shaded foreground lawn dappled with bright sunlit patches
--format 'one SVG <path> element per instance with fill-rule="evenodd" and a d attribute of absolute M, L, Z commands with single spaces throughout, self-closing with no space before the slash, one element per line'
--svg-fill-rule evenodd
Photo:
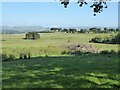
<path fill-rule="evenodd" d="M 117 87 L 118 55 L 48 56 L 3 62 L 3 88 Z"/>

